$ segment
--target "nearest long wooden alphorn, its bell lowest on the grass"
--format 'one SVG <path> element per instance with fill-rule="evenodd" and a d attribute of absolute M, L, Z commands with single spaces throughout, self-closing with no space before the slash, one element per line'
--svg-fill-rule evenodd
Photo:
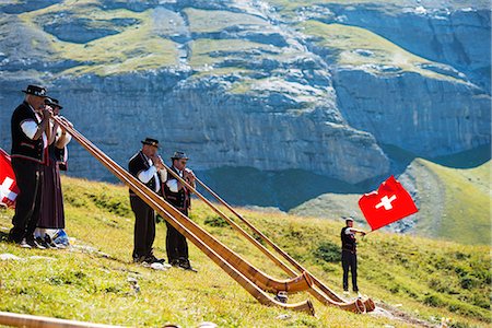
<path fill-rule="evenodd" d="M 74 128 L 67 125 L 65 121 L 55 117 L 55 120 L 66 129 L 85 150 L 87 150 L 94 157 L 96 157 L 106 168 L 108 168 L 116 177 L 118 177 L 124 184 L 126 184 L 133 192 L 140 197 L 145 203 L 152 207 L 159 214 L 163 216 L 173 227 L 187 237 L 195 246 L 203 251 L 211 260 L 213 260 L 219 267 L 221 267 L 231 278 L 233 278 L 241 286 L 249 292 L 258 302 L 265 305 L 279 306 L 283 308 L 290 308 L 294 311 L 302 311 L 314 315 L 314 307 L 311 301 L 301 302 L 297 304 L 284 304 L 278 302 L 266 294 L 254 281 L 255 277 L 248 276 L 248 263 L 241 262 L 241 268 L 234 266 L 227 261 L 227 254 L 222 254 L 221 249 L 214 249 L 212 245 L 207 244 L 200 237 L 198 237 L 191 230 L 192 223 L 187 216 L 184 216 L 179 211 L 175 210 L 164 199 L 160 198 L 152 190 L 150 190 L 140 180 L 129 174 L 126 169 L 119 166 L 116 162 L 104 154 L 92 142 L 85 139 Z M 169 212 L 174 213 L 171 214 Z M 259 270 L 258 270 L 259 271 Z"/>

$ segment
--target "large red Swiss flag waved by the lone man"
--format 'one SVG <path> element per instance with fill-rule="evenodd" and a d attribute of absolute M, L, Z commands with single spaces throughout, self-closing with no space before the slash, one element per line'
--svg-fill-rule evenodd
<path fill-rule="evenodd" d="M 362 196 L 359 207 L 373 231 L 419 211 L 408 191 L 393 175 L 380 184 L 377 191 Z"/>

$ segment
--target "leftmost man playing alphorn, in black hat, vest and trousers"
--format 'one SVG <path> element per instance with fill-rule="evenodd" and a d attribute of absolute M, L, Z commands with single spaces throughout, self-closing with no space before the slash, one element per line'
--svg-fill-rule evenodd
<path fill-rule="evenodd" d="M 9 241 L 24 248 L 45 248 L 34 239 L 43 192 L 43 165 L 48 156 L 50 108 L 46 89 L 28 85 L 24 102 L 12 114 L 12 168 L 20 189 Z"/>

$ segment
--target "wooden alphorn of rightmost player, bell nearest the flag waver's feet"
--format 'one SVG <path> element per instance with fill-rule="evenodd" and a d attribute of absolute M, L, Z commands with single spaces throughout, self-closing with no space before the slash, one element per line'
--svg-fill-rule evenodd
<path fill-rule="evenodd" d="M 306 272 L 309 274 L 309 277 L 313 280 L 313 283 L 316 288 L 318 288 L 324 294 L 319 293 L 317 289 L 312 289 L 309 293 L 315 296 L 318 301 L 320 301 L 324 304 L 327 305 L 335 305 L 341 308 L 345 308 L 349 311 L 360 312 L 361 309 L 361 300 L 356 300 L 353 302 L 348 302 L 347 300 L 343 300 L 337 293 L 335 293 L 331 289 L 329 289 L 326 284 L 324 284 L 319 279 L 317 279 L 313 273 L 311 273 L 307 269 L 305 269 L 301 263 L 298 263 L 294 258 L 292 258 L 288 253 L 285 253 L 283 249 L 281 249 L 277 244 L 274 244 L 270 238 L 268 238 L 263 233 L 261 233 L 256 226 L 254 226 L 249 221 L 243 218 L 236 210 L 234 210 L 233 207 L 231 207 L 225 200 L 223 200 L 219 195 L 216 195 L 212 189 L 210 189 L 206 184 L 203 184 L 199 178 L 196 178 L 196 181 L 203 187 L 210 195 L 212 195 L 220 203 L 222 203 L 225 208 L 227 208 L 233 214 L 235 214 L 243 223 L 245 223 L 250 230 L 253 230 L 262 241 L 265 241 L 268 245 L 270 245 L 273 249 L 277 250 L 284 259 L 286 259 L 292 266 L 294 266 L 298 271 Z M 230 222 L 230 220 L 227 221 Z M 233 226 L 236 226 L 236 224 L 233 224 Z M 248 238 L 249 239 L 249 238 Z M 255 239 L 256 241 L 256 239 Z M 263 245 L 260 243 L 254 243 L 257 247 L 260 247 L 260 249 L 267 254 L 263 249 L 267 249 Z M 259 245 L 259 246 L 258 246 Z M 267 249 L 268 250 L 268 249 Z M 267 254 L 268 257 L 270 257 Z M 271 257 L 270 257 L 271 258 Z M 271 258 L 272 259 L 272 258 Z M 283 269 L 290 276 L 296 276 L 297 273 L 293 271 L 291 268 L 281 265 L 281 261 L 276 261 L 276 263 L 279 265 L 281 269 Z M 359 301 L 359 302 L 358 302 Z M 366 298 L 362 301 L 363 308 L 366 312 L 372 312 L 376 308 L 374 302 L 371 298 Z"/>

